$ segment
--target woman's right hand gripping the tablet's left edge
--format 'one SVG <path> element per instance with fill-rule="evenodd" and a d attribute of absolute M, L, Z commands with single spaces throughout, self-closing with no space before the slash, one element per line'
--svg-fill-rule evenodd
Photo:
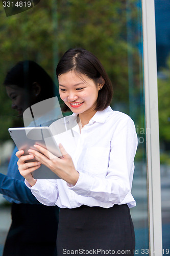
<path fill-rule="evenodd" d="M 16 156 L 17 158 L 19 158 L 17 162 L 19 173 L 23 176 L 23 178 L 25 178 L 29 182 L 31 186 L 34 186 L 37 180 L 33 178 L 31 173 L 34 170 L 38 169 L 41 166 L 41 163 L 37 161 L 26 163 L 25 161 L 33 159 L 34 156 L 33 155 L 22 156 L 23 154 L 24 154 L 23 150 L 16 152 Z"/>

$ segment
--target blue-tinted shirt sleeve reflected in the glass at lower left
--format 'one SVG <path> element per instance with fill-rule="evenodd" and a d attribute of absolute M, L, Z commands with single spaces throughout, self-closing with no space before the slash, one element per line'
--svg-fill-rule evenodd
<path fill-rule="evenodd" d="M 16 152 L 17 148 L 14 149 L 11 156 L 7 176 L 0 174 L 0 193 L 9 202 L 40 204 L 25 185 L 24 179 L 19 173 Z"/>

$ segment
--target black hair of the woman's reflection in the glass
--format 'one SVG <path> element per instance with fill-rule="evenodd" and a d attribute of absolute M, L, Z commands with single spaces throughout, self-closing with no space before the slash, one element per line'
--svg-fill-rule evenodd
<path fill-rule="evenodd" d="M 16 85 L 20 88 L 25 88 L 29 94 L 31 93 L 34 82 L 37 82 L 41 87 L 41 92 L 37 97 L 37 101 L 55 96 L 55 84 L 52 78 L 45 72 L 43 68 L 32 60 L 19 61 L 7 73 L 3 84 L 5 86 Z"/>

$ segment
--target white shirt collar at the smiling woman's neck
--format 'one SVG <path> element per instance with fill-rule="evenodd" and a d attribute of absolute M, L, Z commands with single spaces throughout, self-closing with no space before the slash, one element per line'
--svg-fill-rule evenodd
<path fill-rule="evenodd" d="M 110 106 L 108 106 L 105 110 L 97 111 L 94 114 L 94 116 L 90 119 L 89 124 L 91 124 L 93 122 L 104 123 L 111 112 L 112 112 L 112 109 Z M 72 116 L 77 116 L 77 115 L 78 114 L 76 114 L 76 113 L 72 114 Z"/>

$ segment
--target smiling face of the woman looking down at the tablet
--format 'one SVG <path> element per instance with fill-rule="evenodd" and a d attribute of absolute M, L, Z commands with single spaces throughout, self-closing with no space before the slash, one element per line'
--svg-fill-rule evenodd
<path fill-rule="evenodd" d="M 68 108 L 77 114 L 96 112 L 99 85 L 86 75 L 69 71 L 58 77 L 59 93 Z"/>

